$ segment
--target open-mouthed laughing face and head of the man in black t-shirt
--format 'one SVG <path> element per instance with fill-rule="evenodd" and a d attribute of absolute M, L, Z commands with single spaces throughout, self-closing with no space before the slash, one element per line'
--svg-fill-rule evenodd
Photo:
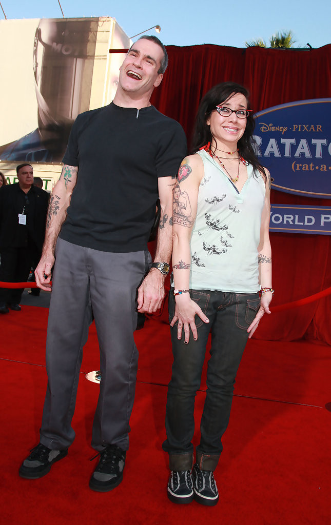
<path fill-rule="evenodd" d="M 119 89 L 135 98 L 150 95 L 163 78 L 158 73 L 162 58 L 160 46 L 143 38 L 138 40 L 120 67 Z"/>

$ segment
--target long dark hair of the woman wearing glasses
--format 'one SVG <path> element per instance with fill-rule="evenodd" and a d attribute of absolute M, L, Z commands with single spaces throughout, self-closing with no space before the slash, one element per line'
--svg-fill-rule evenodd
<path fill-rule="evenodd" d="M 234 95 L 235 93 L 242 93 L 242 95 L 244 95 L 244 97 L 247 100 L 247 109 L 251 109 L 249 91 L 247 91 L 247 89 L 241 86 L 240 84 L 236 84 L 235 82 L 222 82 L 221 84 L 217 84 L 216 86 L 211 88 L 202 98 L 199 104 L 198 113 L 196 114 L 195 118 L 191 153 L 196 153 L 205 144 L 207 144 L 208 142 L 212 142 L 213 135 L 210 131 L 210 126 L 206 124 L 206 120 L 209 119 L 212 111 L 216 109 L 216 106 L 228 100 L 231 97 L 231 95 Z M 244 134 L 241 137 L 241 139 L 239 139 L 237 144 L 239 149 L 239 155 L 241 155 L 243 159 L 245 159 L 245 161 L 249 162 L 253 166 L 254 174 L 257 171 L 260 172 L 264 180 L 266 181 L 266 173 L 264 171 L 264 167 L 262 166 L 262 164 L 260 164 L 260 162 L 258 162 L 252 144 L 254 128 L 255 120 L 253 117 L 253 113 L 250 113 L 247 117 Z"/>

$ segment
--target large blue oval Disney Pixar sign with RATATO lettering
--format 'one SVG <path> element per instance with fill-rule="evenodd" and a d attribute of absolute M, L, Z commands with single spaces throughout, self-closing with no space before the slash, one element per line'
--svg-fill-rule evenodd
<path fill-rule="evenodd" d="M 331 198 L 331 98 L 299 100 L 256 114 L 254 139 L 272 187 Z"/>

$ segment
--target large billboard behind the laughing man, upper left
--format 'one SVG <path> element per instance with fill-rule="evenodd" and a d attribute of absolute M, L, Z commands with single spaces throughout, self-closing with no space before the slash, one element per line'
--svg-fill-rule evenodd
<path fill-rule="evenodd" d="M 0 20 L 0 160 L 59 163 L 79 113 L 111 102 L 130 39 L 111 17 Z"/>

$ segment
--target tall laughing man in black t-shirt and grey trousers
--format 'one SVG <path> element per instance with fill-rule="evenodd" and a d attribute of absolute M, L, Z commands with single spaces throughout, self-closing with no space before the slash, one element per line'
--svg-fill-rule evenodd
<path fill-rule="evenodd" d="M 44 476 L 73 443 L 71 419 L 93 312 L 101 382 L 92 446 L 100 460 L 89 486 L 106 492 L 122 480 L 138 366 L 133 331 L 138 312 L 158 310 L 164 298 L 172 188 L 186 154 L 178 122 L 150 104 L 167 62 L 158 38 L 141 37 L 120 68 L 113 102 L 82 113 L 71 130 L 36 269 L 38 286 L 49 290 L 56 255 L 40 443 L 20 467 L 22 477 Z M 161 221 L 152 264 L 147 241 L 158 196 Z"/>

